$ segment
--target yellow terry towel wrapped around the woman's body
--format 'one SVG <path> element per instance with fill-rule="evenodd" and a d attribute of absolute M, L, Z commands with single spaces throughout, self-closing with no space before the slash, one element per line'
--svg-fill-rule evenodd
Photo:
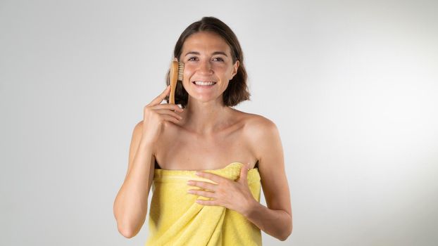
<path fill-rule="evenodd" d="M 242 166 L 240 162 L 232 162 L 223 169 L 205 171 L 237 180 Z M 187 185 L 187 181 L 214 183 L 197 176 L 195 172 L 155 169 L 146 246 L 261 245 L 260 229 L 242 214 L 225 207 L 195 202 L 198 198 L 210 198 L 187 193 L 189 189 L 201 189 Z M 258 169 L 249 169 L 247 179 L 251 194 L 260 202 L 261 183 Z"/>

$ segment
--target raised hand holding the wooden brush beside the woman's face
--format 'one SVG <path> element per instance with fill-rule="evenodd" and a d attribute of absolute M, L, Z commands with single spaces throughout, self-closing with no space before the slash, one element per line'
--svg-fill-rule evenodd
<path fill-rule="evenodd" d="M 180 119 L 182 119 L 176 111 L 182 112 L 184 110 L 178 107 L 178 105 L 168 103 L 160 104 L 169 93 L 170 86 L 151 101 L 151 103 L 144 106 L 142 134 L 142 141 L 144 141 L 144 143 L 155 144 L 158 141 L 165 122 L 178 124 Z M 175 112 L 173 110 L 175 110 Z"/>

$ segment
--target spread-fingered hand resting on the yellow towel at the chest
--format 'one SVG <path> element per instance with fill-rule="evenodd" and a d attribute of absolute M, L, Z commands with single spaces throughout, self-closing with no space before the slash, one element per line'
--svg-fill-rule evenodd
<path fill-rule="evenodd" d="M 188 190 L 188 193 L 193 195 L 201 195 L 205 198 L 212 198 L 213 200 L 196 200 L 200 205 L 207 206 L 222 206 L 227 209 L 232 209 L 239 214 L 246 214 L 254 202 L 257 202 L 249 190 L 246 176 L 248 174 L 248 164 L 244 164 L 240 170 L 239 180 L 232 181 L 216 174 L 199 171 L 196 175 L 205 179 L 210 179 L 215 183 L 208 183 L 204 181 L 187 181 L 189 186 L 196 186 L 204 190 Z"/>

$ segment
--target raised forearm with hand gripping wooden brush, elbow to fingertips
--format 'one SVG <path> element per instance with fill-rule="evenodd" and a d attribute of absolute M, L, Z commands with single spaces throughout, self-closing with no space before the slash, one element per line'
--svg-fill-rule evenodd
<path fill-rule="evenodd" d="M 130 154 L 125 181 L 115 197 L 113 212 L 118 231 L 125 238 L 132 238 L 146 220 L 147 202 L 154 179 L 154 146 L 167 122 L 177 124 L 181 117 L 175 104 L 160 104 L 170 92 L 170 86 L 144 107 L 144 119 L 132 133 Z M 175 110 L 175 112 L 173 111 Z"/>

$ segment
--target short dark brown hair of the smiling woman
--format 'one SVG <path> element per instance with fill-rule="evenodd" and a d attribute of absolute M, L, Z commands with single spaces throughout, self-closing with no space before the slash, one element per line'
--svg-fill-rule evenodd
<path fill-rule="evenodd" d="M 231 28 L 228 27 L 224 22 L 214 17 L 204 17 L 201 20 L 193 22 L 189 25 L 184 32 L 180 35 L 180 38 L 175 44 L 175 49 L 173 50 L 173 56 L 180 60 L 182 45 L 184 41 L 192 34 L 196 32 L 214 32 L 222 37 L 227 44 L 230 46 L 232 63 L 236 63 L 239 60 L 239 67 L 237 68 L 237 74 L 230 80 L 227 89 L 223 92 L 223 103 L 225 106 L 235 106 L 242 101 L 250 100 L 251 94 L 248 91 L 248 86 L 246 85 L 246 70 L 244 66 L 244 53 L 242 47 L 240 47 L 239 41 L 237 40 L 236 34 L 232 32 Z M 170 70 L 168 70 L 166 75 L 166 84 L 170 84 L 169 79 Z M 180 104 L 182 108 L 185 108 L 189 94 L 182 86 L 182 83 L 177 83 L 175 89 L 175 104 Z M 169 103 L 169 97 L 167 96 L 165 100 Z"/>

